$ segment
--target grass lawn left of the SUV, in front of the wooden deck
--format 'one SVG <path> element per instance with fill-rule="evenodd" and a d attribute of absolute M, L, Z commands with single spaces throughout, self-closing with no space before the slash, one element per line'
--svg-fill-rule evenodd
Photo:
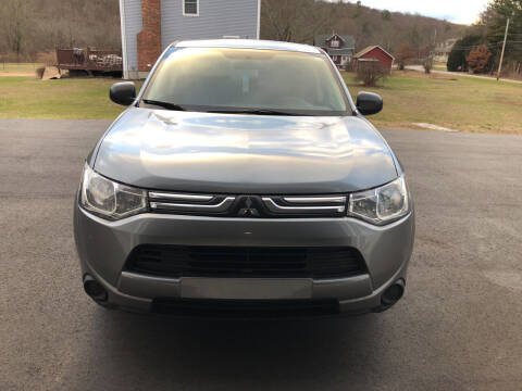
<path fill-rule="evenodd" d="M 115 118 L 123 111 L 121 105 L 109 100 L 109 87 L 115 81 L 109 78 L 42 81 L 0 76 L 0 118 Z"/>

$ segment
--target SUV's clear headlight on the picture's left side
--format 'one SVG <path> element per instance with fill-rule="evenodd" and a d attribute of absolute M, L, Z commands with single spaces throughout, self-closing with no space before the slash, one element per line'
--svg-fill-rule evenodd
<path fill-rule="evenodd" d="M 147 192 L 113 182 L 95 173 L 87 164 L 80 188 L 80 204 L 105 219 L 117 220 L 147 211 Z"/>

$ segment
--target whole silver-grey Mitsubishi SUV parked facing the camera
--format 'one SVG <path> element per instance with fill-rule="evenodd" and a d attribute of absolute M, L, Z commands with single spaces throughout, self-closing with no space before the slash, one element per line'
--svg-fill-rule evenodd
<path fill-rule="evenodd" d="M 186 316 L 380 312 L 413 247 L 402 167 L 321 49 L 169 47 L 87 157 L 74 230 L 86 293 Z"/>

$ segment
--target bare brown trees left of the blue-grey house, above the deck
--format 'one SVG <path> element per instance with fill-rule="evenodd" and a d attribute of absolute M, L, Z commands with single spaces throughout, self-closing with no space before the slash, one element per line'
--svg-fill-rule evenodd
<path fill-rule="evenodd" d="M 121 49 L 116 0 L 0 1 L 3 60 L 37 61 L 41 53 L 73 47 Z"/>

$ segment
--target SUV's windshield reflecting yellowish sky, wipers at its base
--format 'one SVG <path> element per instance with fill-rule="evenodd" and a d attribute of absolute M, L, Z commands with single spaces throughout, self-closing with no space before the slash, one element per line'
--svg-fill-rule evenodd
<path fill-rule="evenodd" d="M 351 115 L 324 55 L 279 50 L 172 48 L 142 101 L 170 110 Z"/>

